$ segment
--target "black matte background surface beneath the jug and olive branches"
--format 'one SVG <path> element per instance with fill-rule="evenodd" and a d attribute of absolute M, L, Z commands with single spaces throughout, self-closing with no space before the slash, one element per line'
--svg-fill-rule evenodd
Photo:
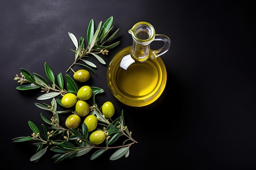
<path fill-rule="evenodd" d="M 1 162 L 6 169 L 148 169 L 187 170 L 256 169 L 255 6 L 253 1 L 14 1 L 0 2 Z M 65 74 L 73 62 L 74 45 L 68 32 L 86 35 L 95 25 L 114 17 L 112 56 L 131 45 L 128 34 L 135 23 L 146 21 L 156 33 L 171 39 L 161 58 L 168 80 L 157 102 L 132 108 L 118 102 L 106 82 L 107 66 L 96 62 L 90 86 L 105 93 L 99 104 L 112 101 L 116 116 L 124 109 L 129 130 L 138 144 L 128 158 L 110 161 L 109 150 L 96 160 L 90 153 L 54 164 L 52 152 L 29 161 L 34 146 L 11 139 L 29 136 L 28 121 L 43 123 L 34 103 L 40 91 L 16 90 L 13 80 L 20 67 L 45 76 L 44 62 L 54 73 Z M 157 43 L 152 44 L 152 48 Z M 93 58 L 93 57 L 92 57 Z M 74 69 L 81 67 L 74 66 Z M 68 74 L 72 75 L 71 72 Z M 79 84 L 81 86 L 82 84 Z M 8 163 L 7 163 L 8 162 Z"/>

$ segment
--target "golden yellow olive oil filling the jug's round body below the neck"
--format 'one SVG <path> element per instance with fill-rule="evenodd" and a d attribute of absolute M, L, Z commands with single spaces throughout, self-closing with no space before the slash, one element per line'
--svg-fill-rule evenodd
<path fill-rule="evenodd" d="M 111 60 L 108 71 L 108 87 L 112 94 L 128 106 L 146 106 L 154 102 L 164 91 L 167 73 L 160 57 L 145 62 L 135 61 L 125 70 L 120 66 L 122 58 L 132 51 L 128 46 Z M 149 50 L 152 53 L 153 50 Z"/>

